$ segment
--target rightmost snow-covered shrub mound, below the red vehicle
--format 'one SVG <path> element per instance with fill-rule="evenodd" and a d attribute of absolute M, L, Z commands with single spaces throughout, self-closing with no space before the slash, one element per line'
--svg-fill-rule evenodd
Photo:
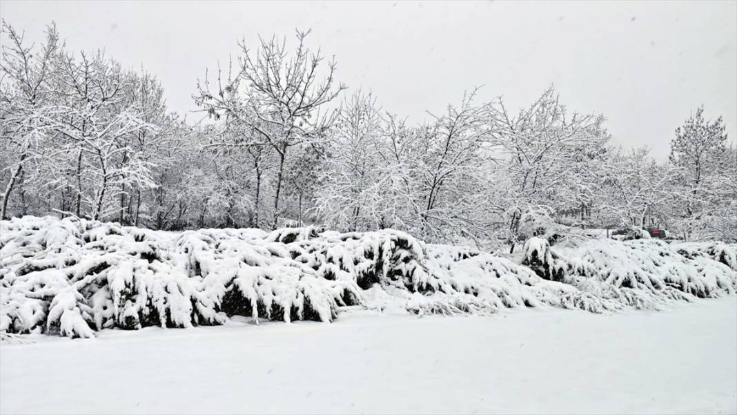
<path fill-rule="evenodd" d="M 530 246 L 531 251 L 539 248 Z M 684 247 L 661 240 L 588 240 L 575 248 L 544 246 L 538 254 L 542 261 L 531 266 L 544 276 L 550 270 L 551 276 L 601 299 L 637 308 L 735 293 L 737 272 L 720 261 L 730 261 L 736 249 L 721 243 L 699 248 L 684 254 Z"/>

